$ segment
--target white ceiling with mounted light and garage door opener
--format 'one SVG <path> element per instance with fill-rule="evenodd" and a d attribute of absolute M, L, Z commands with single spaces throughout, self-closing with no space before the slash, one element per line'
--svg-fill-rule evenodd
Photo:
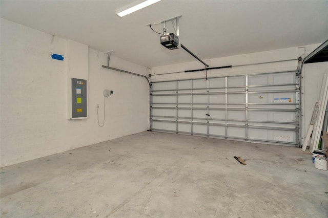
<path fill-rule="evenodd" d="M 146 24 L 182 15 L 180 41 L 201 59 L 321 43 L 328 1 L 169 1 L 119 17 L 133 1 L 0 1 L 1 17 L 145 67 L 194 61 Z M 162 25 L 154 25 L 162 32 Z M 171 23 L 168 33 L 174 32 Z"/>

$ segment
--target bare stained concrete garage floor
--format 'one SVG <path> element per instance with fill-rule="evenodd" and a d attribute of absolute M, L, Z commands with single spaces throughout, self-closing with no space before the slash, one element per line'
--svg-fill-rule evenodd
<path fill-rule="evenodd" d="M 328 171 L 300 148 L 143 132 L 1 168 L 1 216 L 328 217 Z"/>

